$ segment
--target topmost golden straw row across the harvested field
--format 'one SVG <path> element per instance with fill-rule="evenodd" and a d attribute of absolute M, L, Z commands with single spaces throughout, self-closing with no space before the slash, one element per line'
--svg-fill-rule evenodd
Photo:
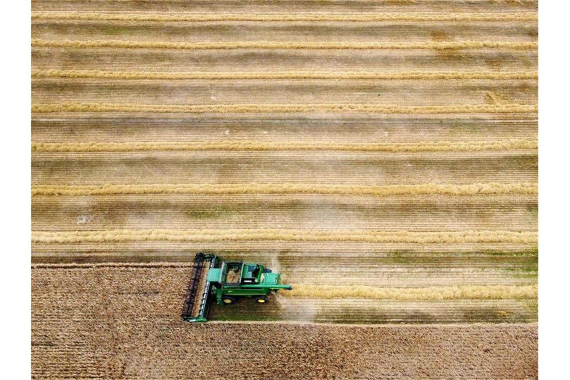
<path fill-rule="evenodd" d="M 318 21 L 318 22 L 378 22 L 378 21 L 538 21 L 536 13 L 78 13 L 33 12 L 33 20 L 85 21 Z"/>

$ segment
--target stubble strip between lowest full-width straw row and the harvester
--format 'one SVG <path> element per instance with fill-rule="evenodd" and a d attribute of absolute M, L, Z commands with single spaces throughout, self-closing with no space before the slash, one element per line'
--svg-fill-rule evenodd
<path fill-rule="evenodd" d="M 513 258 L 536 260 L 536 245 L 521 243 L 366 243 L 366 242 L 115 242 L 115 243 L 32 243 L 32 261 L 36 263 L 172 263 L 192 261 L 196 252 L 217 252 L 228 260 L 250 260 L 260 263 L 272 263 L 275 258 L 295 260 L 302 263 L 303 258 L 322 258 L 322 260 L 342 257 L 354 259 L 354 263 L 367 263 L 370 260 L 394 260 L 394 263 L 414 263 L 417 260 L 435 258 L 453 258 L 463 260 L 473 258 L 491 259 L 492 265 L 500 266 L 503 260 Z M 420 256 L 419 259 L 414 259 Z M 390 259 L 392 258 L 392 259 Z M 398 258 L 401 258 L 398 259 Z M 534 258 L 534 259 L 532 259 Z M 416 260 L 416 261 L 414 261 Z M 125 264 L 127 265 L 127 264 Z M 440 264 L 441 265 L 441 264 Z M 471 265 L 471 264 L 467 264 Z M 475 265 L 475 264 L 473 264 Z M 292 265 L 293 267 L 294 265 Z M 316 270 L 321 265 L 316 266 Z M 445 267 L 445 265 L 443 265 Z M 532 265 L 527 265 L 532 267 Z M 294 269 L 292 268 L 291 269 Z M 326 273 L 325 271 L 321 271 Z M 353 271 L 356 273 L 357 271 Z M 333 279 L 334 280 L 334 279 Z"/>

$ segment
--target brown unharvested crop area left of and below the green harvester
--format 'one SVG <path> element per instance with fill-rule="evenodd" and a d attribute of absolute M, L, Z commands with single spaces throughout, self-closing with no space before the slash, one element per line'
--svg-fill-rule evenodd
<path fill-rule="evenodd" d="M 187 273 L 34 269 L 32 377 L 537 377 L 536 324 L 192 325 Z"/>

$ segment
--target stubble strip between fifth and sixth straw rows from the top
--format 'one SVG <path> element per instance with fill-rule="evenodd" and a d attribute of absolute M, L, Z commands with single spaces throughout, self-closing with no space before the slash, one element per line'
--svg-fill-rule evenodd
<path fill-rule="evenodd" d="M 35 153 L 34 185 L 307 183 L 416 185 L 535 182 L 536 152 Z"/>

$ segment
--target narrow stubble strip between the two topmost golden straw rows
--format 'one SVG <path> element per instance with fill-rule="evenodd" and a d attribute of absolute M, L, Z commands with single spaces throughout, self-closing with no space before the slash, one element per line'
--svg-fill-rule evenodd
<path fill-rule="evenodd" d="M 469 19 L 469 17 L 465 18 Z M 50 41 L 124 40 L 197 43 L 243 42 L 244 36 L 247 36 L 248 42 L 311 43 L 330 41 L 379 43 L 394 40 L 406 42 L 484 41 L 488 40 L 489 35 L 492 35 L 496 42 L 533 42 L 538 36 L 536 19 L 530 22 L 466 21 L 121 22 L 33 19 L 31 32 L 34 39 Z"/>

